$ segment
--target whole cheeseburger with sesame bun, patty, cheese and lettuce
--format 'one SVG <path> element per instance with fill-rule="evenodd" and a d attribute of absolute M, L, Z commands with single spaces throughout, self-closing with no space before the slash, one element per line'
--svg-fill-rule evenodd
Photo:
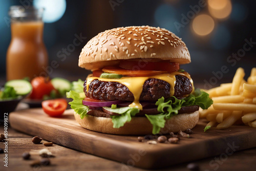
<path fill-rule="evenodd" d="M 119 135 L 193 129 L 199 108 L 207 109 L 212 100 L 194 91 L 190 75 L 180 69 L 190 61 L 184 42 L 166 29 L 132 26 L 99 33 L 79 56 L 78 66 L 93 72 L 84 92 L 67 93 L 76 121 Z"/>

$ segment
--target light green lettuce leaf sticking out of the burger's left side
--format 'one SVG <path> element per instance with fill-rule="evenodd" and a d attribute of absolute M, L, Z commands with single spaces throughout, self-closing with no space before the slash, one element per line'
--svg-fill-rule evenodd
<path fill-rule="evenodd" d="M 83 94 L 84 95 L 84 94 Z M 81 93 L 77 93 L 74 90 L 71 90 L 66 93 L 67 98 L 72 98 L 73 101 L 69 102 L 71 105 L 71 108 L 80 115 L 80 118 L 83 119 L 86 115 L 87 112 L 90 111 L 88 106 L 82 104 L 82 100 L 84 99 L 85 96 L 82 96 Z"/>

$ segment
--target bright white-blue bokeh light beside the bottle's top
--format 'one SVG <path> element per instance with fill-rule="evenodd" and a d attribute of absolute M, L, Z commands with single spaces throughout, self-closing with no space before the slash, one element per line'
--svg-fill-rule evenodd
<path fill-rule="evenodd" d="M 66 11 L 65 0 L 34 0 L 36 8 L 45 8 L 42 19 L 45 23 L 53 23 L 59 20 Z"/>

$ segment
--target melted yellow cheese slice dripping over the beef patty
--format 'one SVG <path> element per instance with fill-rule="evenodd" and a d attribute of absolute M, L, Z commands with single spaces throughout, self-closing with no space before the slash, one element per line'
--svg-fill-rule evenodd
<path fill-rule="evenodd" d="M 106 82 L 119 82 L 119 83 L 123 84 L 124 86 L 126 86 L 130 90 L 130 92 L 132 92 L 134 95 L 134 101 L 129 106 L 138 108 L 139 110 L 142 110 L 142 105 L 140 104 L 139 99 L 140 99 L 140 95 L 143 90 L 144 82 L 150 78 L 157 78 L 157 79 L 164 80 L 170 84 L 170 96 L 173 96 L 174 95 L 174 86 L 176 83 L 176 78 L 175 78 L 176 75 L 186 76 L 187 78 L 190 79 L 190 82 L 193 85 L 193 80 L 191 79 L 190 75 L 187 72 L 183 72 L 183 73 L 173 72 L 170 74 L 165 73 L 165 74 L 153 75 L 153 76 L 148 76 L 148 77 L 122 77 L 120 79 L 88 77 L 86 86 L 87 86 L 87 91 L 88 91 L 90 83 L 95 79 L 98 79 L 99 81 L 106 81 Z M 194 88 L 194 86 L 193 86 L 193 88 Z"/>

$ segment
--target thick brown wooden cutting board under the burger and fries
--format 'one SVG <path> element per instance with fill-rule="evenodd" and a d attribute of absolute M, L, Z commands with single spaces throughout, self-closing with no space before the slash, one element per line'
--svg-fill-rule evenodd
<path fill-rule="evenodd" d="M 73 111 L 52 118 L 42 109 L 28 109 L 10 114 L 11 126 L 20 132 L 45 140 L 141 168 L 161 168 L 211 156 L 225 159 L 235 151 L 256 146 L 256 129 L 231 126 L 227 130 L 212 127 L 203 132 L 205 120 L 193 129 L 191 138 L 181 138 L 178 144 L 147 144 L 137 136 L 109 135 L 83 129 L 74 119 Z M 125 168 L 127 167 L 127 168 Z"/>

